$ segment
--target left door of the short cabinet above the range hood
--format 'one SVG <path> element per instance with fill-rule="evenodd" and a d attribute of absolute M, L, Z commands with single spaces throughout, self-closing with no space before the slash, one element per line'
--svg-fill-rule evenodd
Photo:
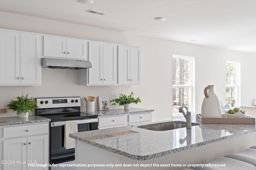
<path fill-rule="evenodd" d="M 66 58 L 66 38 L 44 36 L 44 56 Z"/>

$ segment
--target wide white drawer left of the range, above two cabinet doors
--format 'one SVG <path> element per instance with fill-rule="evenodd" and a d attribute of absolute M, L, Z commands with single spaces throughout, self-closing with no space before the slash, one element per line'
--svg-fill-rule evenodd
<path fill-rule="evenodd" d="M 48 123 L 37 125 L 24 125 L 14 127 L 4 127 L 3 137 L 21 137 L 28 135 L 38 135 L 42 133 L 48 133 Z"/>

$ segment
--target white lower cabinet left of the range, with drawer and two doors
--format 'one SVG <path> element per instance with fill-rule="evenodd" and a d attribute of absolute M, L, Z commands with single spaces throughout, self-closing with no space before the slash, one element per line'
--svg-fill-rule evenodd
<path fill-rule="evenodd" d="M 48 170 L 45 166 L 48 165 L 49 159 L 48 123 L 39 125 L 3 128 L 3 160 L 6 161 L 6 164 L 3 164 L 4 170 Z M 44 127 L 44 130 L 38 129 L 39 127 Z M 19 133 L 17 137 L 14 137 L 18 129 L 24 129 L 24 133 Z M 36 129 L 38 129 L 38 134 L 30 133 Z"/>

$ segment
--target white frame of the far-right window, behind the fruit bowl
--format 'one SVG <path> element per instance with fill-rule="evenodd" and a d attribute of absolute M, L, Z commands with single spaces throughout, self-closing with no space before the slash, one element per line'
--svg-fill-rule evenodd
<path fill-rule="evenodd" d="M 234 87 L 235 89 L 237 89 L 237 99 L 236 99 L 236 106 L 234 107 L 238 107 L 241 105 L 241 72 L 240 72 L 240 62 L 236 62 L 236 61 L 226 61 L 226 64 L 230 63 L 230 64 L 236 64 L 236 84 L 227 84 L 226 82 L 226 88 L 232 88 Z M 226 70 L 226 69 L 225 69 Z M 226 101 L 227 101 L 227 96 L 226 96 Z M 231 107 L 231 106 L 230 106 Z"/>

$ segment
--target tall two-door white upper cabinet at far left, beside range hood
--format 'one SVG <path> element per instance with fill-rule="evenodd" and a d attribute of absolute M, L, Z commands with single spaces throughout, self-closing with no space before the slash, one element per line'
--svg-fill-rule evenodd
<path fill-rule="evenodd" d="M 0 31 L 0 85 L 41 83 L 40 36 Z"/>

